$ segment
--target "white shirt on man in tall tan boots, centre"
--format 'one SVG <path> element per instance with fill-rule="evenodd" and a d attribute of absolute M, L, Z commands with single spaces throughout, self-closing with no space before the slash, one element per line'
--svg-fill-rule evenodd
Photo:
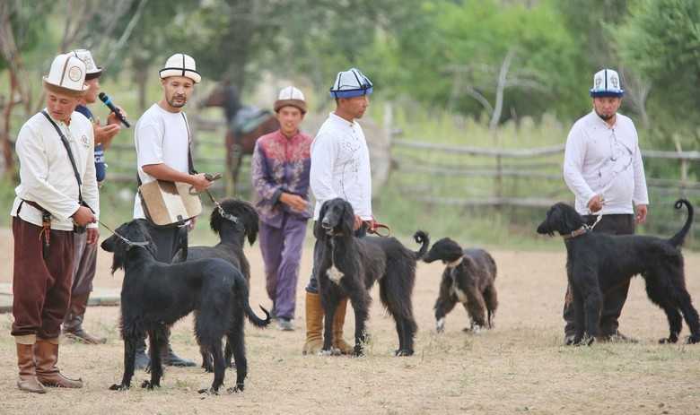
<path fill-rule="evenodd" d="M 311 143 L 310 176 L 314 220 L 319 219 L 321 204 L 337 197 L 349 202 L 363 220 L 372 219 L 370 151 L 357 122 L 328 115 Z"/>

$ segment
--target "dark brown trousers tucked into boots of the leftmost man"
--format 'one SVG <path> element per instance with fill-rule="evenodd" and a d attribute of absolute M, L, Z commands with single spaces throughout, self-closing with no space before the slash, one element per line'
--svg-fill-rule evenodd
<path fill-rule="evenodd" d="M 13 217 L 13 336 L 36 334 L 54 339 L 68 311 L 74 261 L 70 230 L 51 230 L 46 259 L 41 227 Z"/>

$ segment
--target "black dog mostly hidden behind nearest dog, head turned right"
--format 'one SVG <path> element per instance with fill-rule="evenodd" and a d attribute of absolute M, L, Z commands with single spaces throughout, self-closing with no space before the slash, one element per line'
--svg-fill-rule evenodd
<path fill-rule="evenodd" d="M 205 258 L 221 258 L 240 270 L 250 286 L 250 264 L 243 253 L 245 240 L 252 246 L 258 238 L 258 212 L 248 202 L 237 199 L 224 199 L 221 208 L 214 207 L 209 219 L 209 226 L 219 235 L 220 242 L 215 246 L 182 246 L 175 255 L 173 262 L 194 261 Z M 211 353 L 204 348 L 202 367 L 207 372 L 214 371 L 214 360 Z M 224 361 L 231 367 L 233 354 L 232 345 L 226 342 Z"/>

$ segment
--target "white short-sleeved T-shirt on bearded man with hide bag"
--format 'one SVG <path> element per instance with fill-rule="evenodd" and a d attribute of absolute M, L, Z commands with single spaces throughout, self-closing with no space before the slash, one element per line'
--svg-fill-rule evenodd
<path fill-rule="evenodd" d="M 144 166 L 150 164 L 165 164 L 171 169 L 183 173 L 189 172 L 188 167 L 188 125 L 184 113 L 170 112 L 153 104 L 146 109 L 138 119 L 134 129 L 136 144 L 136 168 L 141 183 L 149 183 L 155 177 L 144 172 Z M 136 192 L 134 202 L 134 219 L 144 219 L 144 208 L 141 206 L 141 196 Z"/>

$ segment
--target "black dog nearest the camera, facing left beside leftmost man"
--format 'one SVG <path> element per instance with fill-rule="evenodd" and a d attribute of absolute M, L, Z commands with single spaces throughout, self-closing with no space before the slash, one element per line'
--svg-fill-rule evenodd
<path fill-rule="evenodd" d="M 248 373 L 243 316 L 248 316 L 249 321 L 258 327 L 265 327 L 270 318 L 265 308 L 265 320 L 253 314 L 249 306 L 248 285 L 241 272 L 219 258 L 184 264 L 157 262 L 153 257 L 155 245 L 144 220 L 121 225 L 101 246 L 114 254 L 112 272 L 124 269 L 121 289 L 124 376 L 121 384 L 112 385 L 110 389 L 130 387 L 136 342 L 143 339 L 145 333 L 148 333 L 150 342 L 151 381 L 145 381 L 142 387 L 160 386 L 162 362 L 157 350 L 165 342 L 166 327 L 195 311 L 197 342 L 214 356 L 214 382 L 209 390 L 199 392 L 217 393 L 223 385 L 223 336 L 232 344 L 236 361 L 236 387 L 231 391 L 242 391 Z"/>

